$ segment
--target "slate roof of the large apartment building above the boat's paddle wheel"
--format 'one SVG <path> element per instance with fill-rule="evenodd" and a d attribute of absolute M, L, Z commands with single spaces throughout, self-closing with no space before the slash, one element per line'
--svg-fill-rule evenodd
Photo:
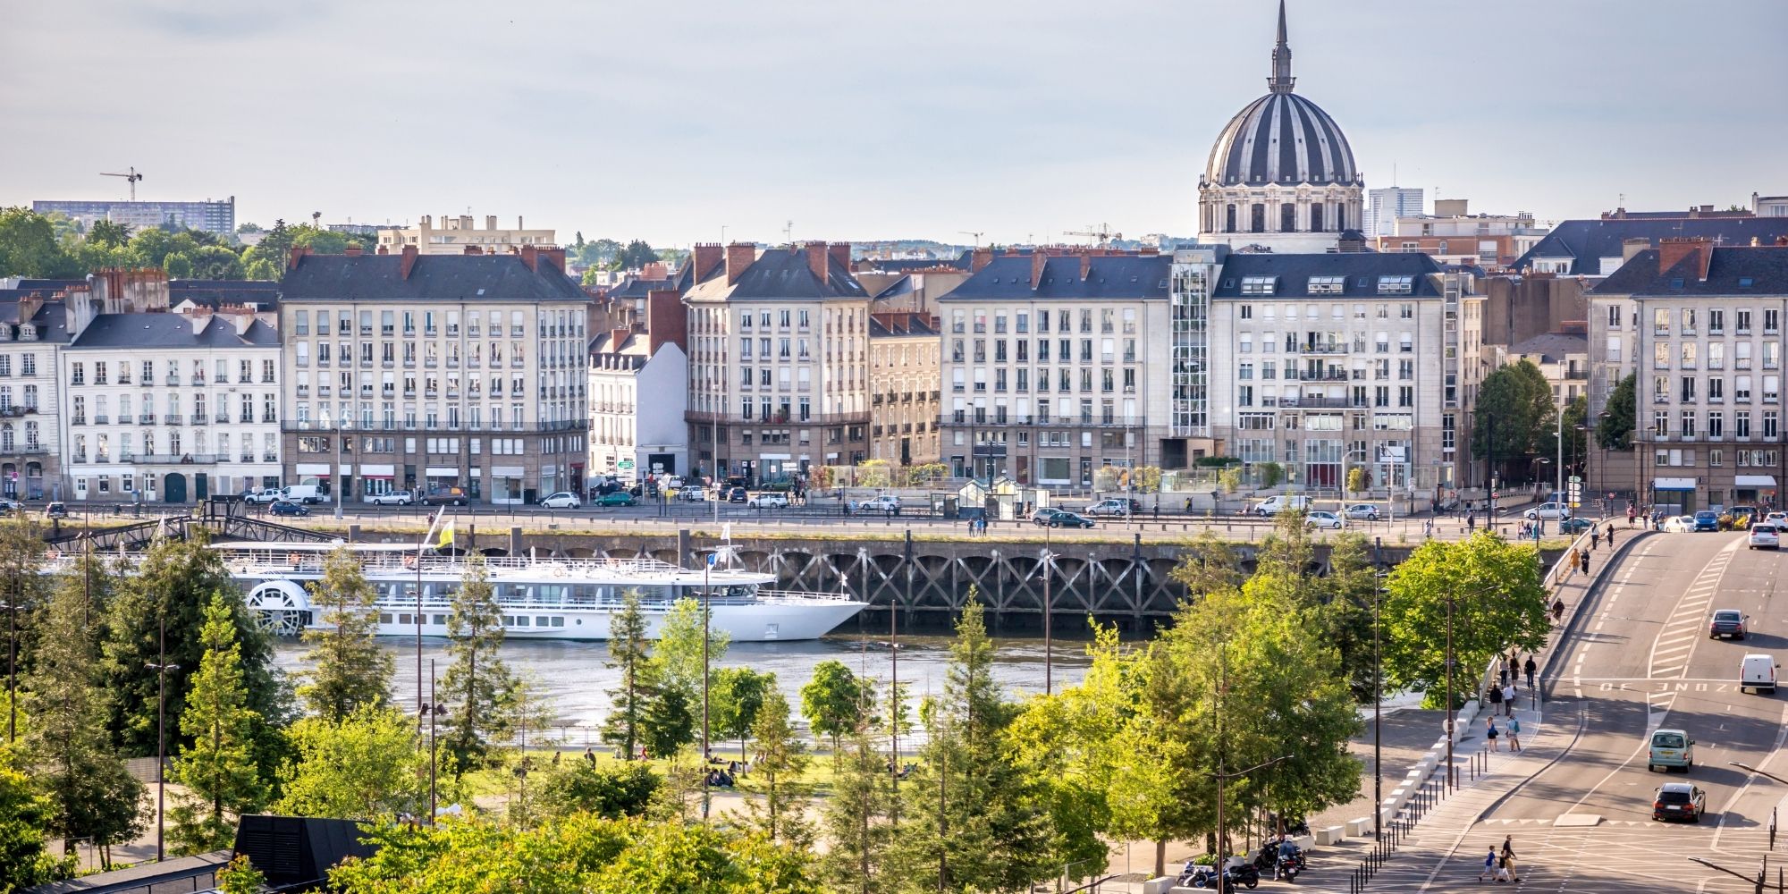
<path fill-rule="evenodd" d="M 547 257 L 436 254 L 402 275 L 401 254 L 308 254 L 279 283 L 281 300 L 592 300 Z"/>

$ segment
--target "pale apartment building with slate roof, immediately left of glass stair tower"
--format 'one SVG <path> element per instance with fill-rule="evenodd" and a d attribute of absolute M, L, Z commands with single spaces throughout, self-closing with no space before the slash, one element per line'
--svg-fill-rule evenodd
<path fill-rule="evenodd" d="M 1094 468 L 1159 463 L 1171 275 L 1150 249 L 976 250 L 937 300 L 951 474 L 1091 486 Z"/>

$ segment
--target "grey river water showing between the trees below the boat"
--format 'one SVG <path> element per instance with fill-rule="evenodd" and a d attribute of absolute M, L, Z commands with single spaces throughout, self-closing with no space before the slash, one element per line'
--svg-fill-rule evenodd
<path fill-rule="evenodd" d="M 397 656 L 397 679 L 393 694 L 401 706 L 417 703 L 417 647 L 415 640 L 383 638 L 381 644 Z M 996 638 L 994 678 L 1005 687 L 1007 696 L 1023 699 L 1042 692 L 1044 681 L 1044 644 L 1041 638 Z M 304 669 L 304 645 L 297 640 L 281 640 L 275 651 L 275 663 L 290 674 Z M 853 672 L 874 678 L 885 690 L 889 679 L 887 635 L 880 640 L 869 638 L 867 645 L 855 633 L 835 633 L 821 640 L 806 642 L 738 642 L 715 667 L 753 667 L 776 674 L 776 685 L 794 708 L 796 722 L 801 712 L 801 687 L 814 676 L 814 665 L 824 660 L 839 660 Z M 422 638 L 422 685 L 427 687 L 429 660 L 436 662 L 436 679 L 447 674 L 452 658 L 447 654 L 447 640 Z M 608 715 L 608 690 L 617 685 L 619 672 L 606 667 L 608 644 L 603 642 L 560 642 L 529 640 L 506 642 L 502 660 L 522 674 L 527 674 L 535 690 L 552 704 L 558 717 L 556 730 L 549 738 L 558 738 L 567 747 L 583 747 L 585 742 L 601 746 L 599 728 Z M 912 712 L 917 713 L 917 699 L 926 692 L 940 692 L 944 687 L 944 669 L 949 662 L 949 637 L 901 637 L 899 638 L 899 679 L 914 697 Z M 1057 688 L 1078 683 L 1087 669 L 1084 640 L 1057 640 L 1051 662 L 1053 683 Z M 805 726 L 805 722 L 803 722 Z M 538 742 L 529 735 L 531 742 Z"/>

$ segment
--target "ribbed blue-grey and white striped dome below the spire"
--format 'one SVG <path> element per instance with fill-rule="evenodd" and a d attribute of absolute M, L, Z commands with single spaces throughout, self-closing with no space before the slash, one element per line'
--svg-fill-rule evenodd
<path fill-rule="evenodd" d="M 1230 118 L 1210 148 L 1209 186 L 1357 184 L 1346 136 L 1314 102 L 1275 89 Z"/>

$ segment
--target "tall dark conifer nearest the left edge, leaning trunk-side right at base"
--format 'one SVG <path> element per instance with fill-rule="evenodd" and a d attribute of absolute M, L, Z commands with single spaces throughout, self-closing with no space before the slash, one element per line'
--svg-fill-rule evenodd
<path fill-rule="evenodd" d="M 88 588 L 80 574 L 98 567 L 84 556 L 64 576 L 45 611 L 41 645 L 20 694 L 29 717 L 21 763 L 48 803 L 45 828 L 72 853 L 80 839 L 105 849 L 132 840 L 147 822 L 145 789 L 105 735 L 107 694 L 95 683 L 95 645 Z"/>

